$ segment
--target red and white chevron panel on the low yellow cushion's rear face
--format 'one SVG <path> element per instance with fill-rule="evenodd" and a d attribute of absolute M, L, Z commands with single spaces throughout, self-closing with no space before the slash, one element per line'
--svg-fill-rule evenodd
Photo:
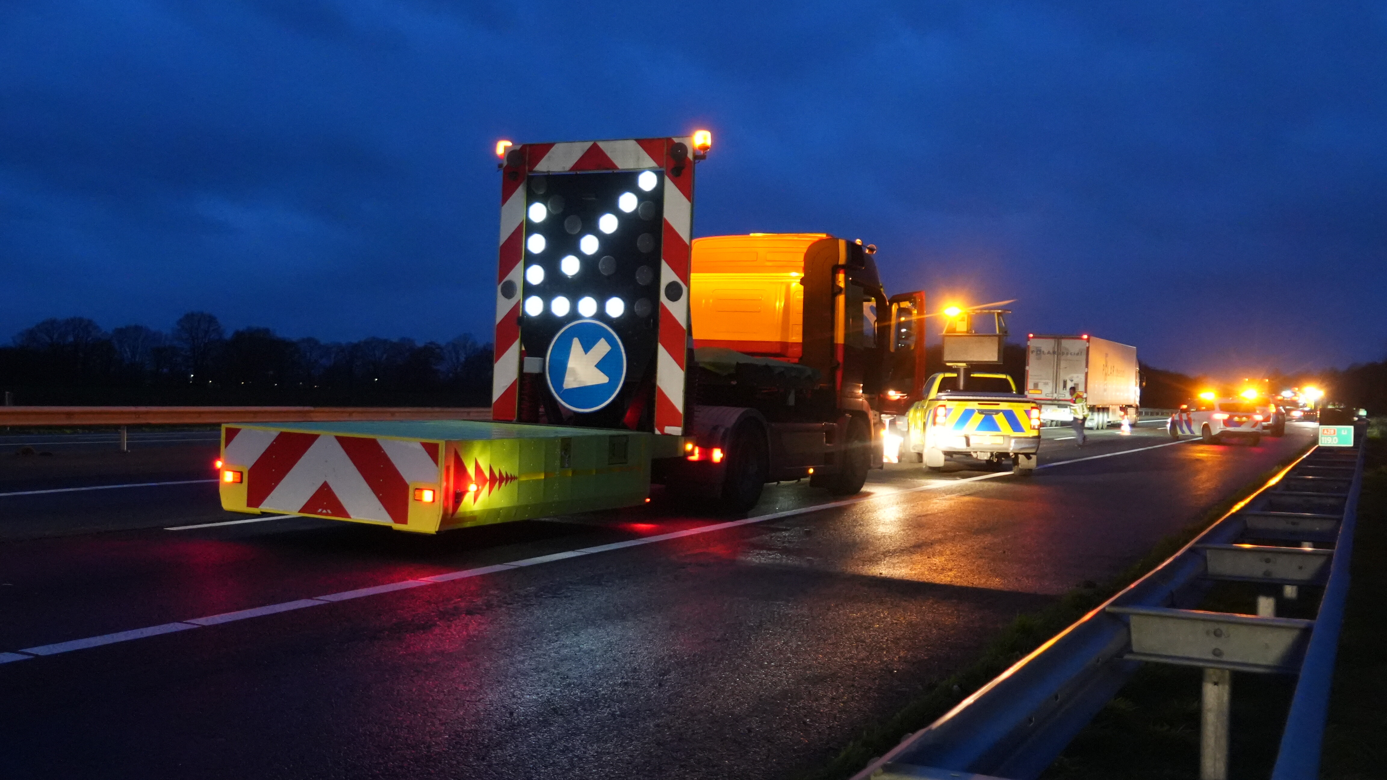
<path fill-rule="evenodd" d="M 405 525 L 409 483 L 438 484 L 438 444 L 227 427 L 222 459 L 245 469 L 252 509 Z"/>

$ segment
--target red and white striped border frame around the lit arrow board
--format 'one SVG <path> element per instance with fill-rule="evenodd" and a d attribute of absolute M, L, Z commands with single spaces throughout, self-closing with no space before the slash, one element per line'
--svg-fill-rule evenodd
<path fill-rule="evenodd" d="M 688 157 L 670 149 L 682 143 Z M 688 355 L 689 246 L 694 226 L 694 144 L 688 137 L 535 143 L 516 147 L 501 178 L 501 261 L 497 276 L 497 339 L 491 418 L 516 419 L 520 379 L 520 260 L 524 255 L 524 179 L 530 172 L 664 169 L 664 225 L 660 258 L 659 351 L 655 373 L 655 432 L 684 432 L 684 372 Z M 675 165 L 680 173 L 674 173 Z M 506 286 L 510 282 L 510 286 Z M 678 282 L 671 300 L 670 282 Z M 510 291 L 510 297 L 505 296 Z"/>

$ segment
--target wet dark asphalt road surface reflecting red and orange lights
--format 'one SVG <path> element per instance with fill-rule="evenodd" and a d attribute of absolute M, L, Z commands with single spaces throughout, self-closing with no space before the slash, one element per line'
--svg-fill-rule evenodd
<path fill-rule="evenodd" d="M 1033 477 L 896 465 L 817 511 L 827 495 L 782 484 L 761 522 L 0 663 L 0 777 L 793 777 L 1311 432 Z M 1169 441 L 1065 434 L 1047 430 L 1042 465 Z M 61 482 L 17 462 L 0 461 L 0 493 Z M 139 470 L 69 476 L 114 484 L 111 468 Z M 724 519 L 656 494 L 440 537 L 315 519 L 164 530 L 244 519 L 215 501 L 205 483 L 0 495 L 0 654 Z"/>

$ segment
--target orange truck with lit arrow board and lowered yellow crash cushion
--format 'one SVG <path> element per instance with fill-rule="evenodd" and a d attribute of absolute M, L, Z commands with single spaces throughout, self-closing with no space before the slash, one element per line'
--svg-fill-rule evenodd
<path fill-rule="evenodd" d="M 921 398 L 924 293 L 824 233 L 692 239 L 710 139 L 498 146 L 492 421 L 226 425 L 226 509 L 454 527 L 861 490 Z"/>

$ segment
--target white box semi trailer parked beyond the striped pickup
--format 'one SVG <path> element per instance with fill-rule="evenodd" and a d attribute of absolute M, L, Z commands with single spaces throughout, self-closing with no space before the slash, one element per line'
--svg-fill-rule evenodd
<path fill-rule="evenodd" d="M 1069 422 L 1069 389 L 1089 401 L 1087 427 L 1135 423 L 1142 404 L 1136 347 L 1094 336 L 1036 336 L 1026 343 L 1026 396 L 1040 419 Z"/>

